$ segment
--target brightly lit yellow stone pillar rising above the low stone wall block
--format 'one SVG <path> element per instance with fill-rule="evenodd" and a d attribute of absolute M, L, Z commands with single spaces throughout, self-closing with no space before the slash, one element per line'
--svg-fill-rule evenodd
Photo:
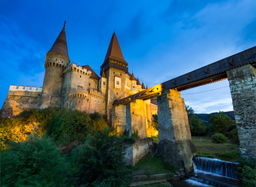
<path fill-rule="evenodd" d="M 137 99 L 126 104 L 126 130 L 130 135 L 138 130 L 140 138 L 147 137 L 145 101 Z"/>

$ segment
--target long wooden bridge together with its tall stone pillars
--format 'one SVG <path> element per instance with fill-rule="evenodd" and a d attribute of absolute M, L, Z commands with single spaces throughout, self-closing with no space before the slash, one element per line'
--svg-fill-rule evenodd
<path fill-rule="evenodd" d="M 146 137 L 148 99 L 157 97 L 158 151 L 164 161 L 192 170 L 196 155 L 188 115 L 180 91 L 228 79 L 242 157 L 255 158 L 256 151 L 256 46 L 234 54 L 142 92 L 113 102 L 111 122 L 120 132 L 138 130 Z M 142 146 L 143 147 L 143 146 Z M 140 148 L 136 148 L 140 150 Z M 136 152 L 136 151 L 135 151 Z M 136 157 L 134 151 L 133 158 Z M 136 153 L 138 155 L 138 153 Z"/>

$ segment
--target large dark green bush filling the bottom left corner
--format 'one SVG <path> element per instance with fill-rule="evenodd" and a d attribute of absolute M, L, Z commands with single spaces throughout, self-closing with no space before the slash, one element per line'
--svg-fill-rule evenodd
<path fill-rule="evenodd" d="M 67 163 L 51 139 L 30 136 L 1 151 L 1 186 L 63 186 Z"/>

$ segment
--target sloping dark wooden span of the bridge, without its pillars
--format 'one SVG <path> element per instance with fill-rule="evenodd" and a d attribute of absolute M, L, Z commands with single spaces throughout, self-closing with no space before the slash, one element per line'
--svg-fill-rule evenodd
<path fill-rule="evenodd" d="M 227 78 L 226 72 L 228 70 L 232 70 L 246 64 L 256 66 L 256 46 L 148 88 L 142 92 L 114 101 L 113 105 L 126 104 L 136 99 L 150 99 L 162 94 L 163 90 L 176 89 L 178 91 L 182 91 L 224 80 Z"/>

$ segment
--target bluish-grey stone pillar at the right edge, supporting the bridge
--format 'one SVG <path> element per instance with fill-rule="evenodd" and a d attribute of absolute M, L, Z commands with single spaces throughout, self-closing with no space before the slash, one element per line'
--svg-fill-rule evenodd
<path fill-rule="evenodd" d="M 256 157 L 256 69 L 250 64 L 227 71 L 242 157 Z"/>

